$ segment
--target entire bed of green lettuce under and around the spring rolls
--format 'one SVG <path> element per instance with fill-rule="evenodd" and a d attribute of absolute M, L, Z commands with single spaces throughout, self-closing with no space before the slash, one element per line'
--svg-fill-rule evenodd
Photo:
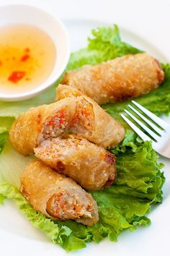
<path fill-rule="evenodd" d="M 101 27 L 92 30 L 87 48 L 71 54 L 66 69 L 78 69 L 84 64 L 98 64 L 117 56 L 139 52 L 141 51 L 122 42 L 116 25 Z M 166 80 L 160 88 L 137 99 L 158 115 L 168 114 L 170 104 L 170 66 L 167 64 L 163 67 Z M 41 95 L 27 101 L 0 102 L 0 150 L 4 148 L 0 155 L 0 171 L 3 178 L 8 181 L 8 184 L 0 185 L 0 202 L 2 203 L 5 198 L 14 200 L 33 226 L 67 251 L 86 247 L 86 242 L 100 242 L 104 237 L 117 241 L 117 236 L 124 229 L 133 231 L 136 226 L 148 226 L 151 221 L 146 214 L 152 204 L 162 201 L 162 186 L 165 179 L 160 171 L 162 164 L 157 163 L 158 155 L 152 149 L 151 142 L 141 142 L 120 118 L 120 113 L 127 107 L 128 101 L 103 106 L 111 116 L 125 125 L 126 135 L 125 140 L 112 150 L 117 157 L 116 183 L 109 189 L 91 193 L 99 208 L 99 222 L 96 225 L 90 227 L 75 221 L 51 221 L 37 213 L 15 188 L 19 187 L 19 175 L 29 158 L 19 155 L 9 142 L 6 143 L 7 131 L 14 118 L 31 106 L 53 102 L 57 84 L 58 82 Z"/>

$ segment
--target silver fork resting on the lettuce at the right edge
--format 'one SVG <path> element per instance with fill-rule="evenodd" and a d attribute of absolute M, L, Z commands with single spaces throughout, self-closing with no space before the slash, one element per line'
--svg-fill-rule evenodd
<path fill-rule="evenodd" d="M 146 135 L 141 129 L 139 129 L 132 121 L 130 121 L 124 114 L 121 114 L 122 118 L 129 124 L 129 126 L 137 133 L 137 135 L 144 141 L 150 140 L 152 141 L 153 149 L 156 150 L 160 155 L 166 156 L 166 158 L 170 158 L 170 125 L 167 124 L 164 120 L 160 119 L 158 116 L 153 114 L 148 109 L 141 106 L 139 103 L 132 101 L 132 103 L 140 109 L 146 116 L 148 116 L 152 121 L 143 116 L 136 108 L 131 105 L 128 107 L 138 116 L 140 119 L 148 124 L 153 130 L 148 128 L 146 124 L 137 119 L 133 114 L 130 113 L 127 109 L 125 109 L 125 113 L 128 114 L 141 128 L 143 128 L 148 135 Z M 155 123 L 155 124 L 154 124 Z M 158 128 L 156 126 L 158 124 Z"/>

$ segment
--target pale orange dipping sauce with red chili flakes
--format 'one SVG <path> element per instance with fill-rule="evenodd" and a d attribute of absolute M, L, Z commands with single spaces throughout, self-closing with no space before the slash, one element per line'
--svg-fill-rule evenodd
<path fill-rule="evenodd" d="M 23 93 L 47 80 L 53 70 L 53 40 L 33 25 L 0 27 L 0 91 Z"/>

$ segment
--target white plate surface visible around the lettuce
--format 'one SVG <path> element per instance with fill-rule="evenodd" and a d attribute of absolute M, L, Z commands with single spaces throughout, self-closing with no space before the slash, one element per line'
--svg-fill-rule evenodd
<path fill-rule="evenodd" d="M 108 25 L 104 22 L 89 20 L 66 20 L 66 27 L 71 36 L 71 50 L 76 51 L 86 47 L 91 28 Z M 110 25 L 110 24 L 109 24 Z M 123 40 L 132 43 L 133 46 L 142 48 L 153 54 L 161 61 L 167 61 L 161 51 L 156 49 L 152 42 L 148 42 L 139 35 L 125 29 L 120 29 Z M 169 121 L 169 118 L 165 118 Z M 169 255 L 169 212 L 170 212 L 170 161 L 160 158 L 165 163 L 166 184 L 164 185 L 164 201 L 161 205 L 151 210 L 149 218 L 150 227 L 139 227 L 136 231 L 124 231 L 120 234 L 118 242 L 109 242 L 108 239 L 99 244 L 87 244 L 86 249 L 70 252 L 69 255 L 93 255 L 93 256 L 143 256 L 143 255 Z M 6 201 L 0 210 L 0 250 L 1 255 L 68 255 L 61 247 L 52 244 L 45 235 L 37 229 L 32 228 L 29 221 L 19 213 L 12 202 Z"/>

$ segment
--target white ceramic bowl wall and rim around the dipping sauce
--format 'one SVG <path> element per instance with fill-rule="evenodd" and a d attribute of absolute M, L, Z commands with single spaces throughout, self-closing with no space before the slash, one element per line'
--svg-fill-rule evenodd
<path fill-rule="evenodd" d="M 61 20 L 53 17 L 52 14 L 29 5 L 14 4 L 0 6 L 0 17 L 0 27 L 10 24 L 35 25 L 44 30 L 55 44 L 57 58 L 47 80 L 38 85 L 37 88 L 24 93 L 1 93 L 0 91 L 0 99 L 3 101 L 22 101 L 26 98 L 32 98 L 37 93 L 53 85 L 66 68 L 70 55 L 70 43 L 66 27 Z"/>

